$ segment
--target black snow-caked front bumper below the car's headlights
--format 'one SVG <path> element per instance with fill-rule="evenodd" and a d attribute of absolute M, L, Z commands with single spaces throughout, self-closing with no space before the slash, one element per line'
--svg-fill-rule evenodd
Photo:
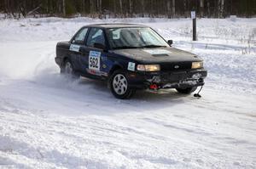
<path fill-rule="evenodd" d="M 151 85 L 157 88 L 186 88 L 204 85 L 207 70 L 183 70 L 172 72 L 131 72 L 128 81 L 131 88 L 148 89 Z"/>

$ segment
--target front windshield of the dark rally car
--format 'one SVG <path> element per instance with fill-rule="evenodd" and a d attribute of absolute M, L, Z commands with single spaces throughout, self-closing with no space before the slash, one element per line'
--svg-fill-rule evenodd
<path fill-rule="evenodd" d="M 160 48 L 168 47 L 166 41 L 148 27 L 108 29 L 111 48 Z"/>

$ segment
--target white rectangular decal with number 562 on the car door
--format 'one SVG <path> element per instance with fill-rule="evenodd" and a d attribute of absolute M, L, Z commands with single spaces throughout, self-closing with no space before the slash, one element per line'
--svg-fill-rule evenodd
<path fill-rule="evenodd" d="M 89 54 L 89 70 L 100 70 L 101 66 L 101 53 L 90 51 Z"/>

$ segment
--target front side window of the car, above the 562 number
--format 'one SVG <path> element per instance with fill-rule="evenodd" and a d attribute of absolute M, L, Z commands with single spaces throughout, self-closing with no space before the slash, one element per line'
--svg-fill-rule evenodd
<path fill-rule="evenodd" d="M 94 43 L 101 43 L 105 45 L 105 38 L 102 29 L 100 28 L 91 28 L 89 36 L 87 38 L 86 45 L 93 47 Z"/>

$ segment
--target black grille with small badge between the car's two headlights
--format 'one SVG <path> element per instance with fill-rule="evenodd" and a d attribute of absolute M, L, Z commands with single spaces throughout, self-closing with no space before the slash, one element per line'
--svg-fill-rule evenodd
<path fill-rule="evenodd" d="M 161 71 L 189 70 L 191 62 L 174 62 L 168 64 L 160 64 Z"/>

